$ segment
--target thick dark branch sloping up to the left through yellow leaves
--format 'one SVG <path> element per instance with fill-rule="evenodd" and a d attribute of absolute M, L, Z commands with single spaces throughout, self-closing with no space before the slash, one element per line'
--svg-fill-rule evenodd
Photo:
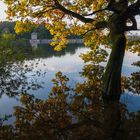
<path fill-rule="evenodd" d="M 91 19 L 91 18 L 85 18 L 84 16 L 78 14 L 78 13 L 75 13 L 71 10 L 68 10 L 66 9 L 64 6 L 62 6 L 57 0 L 54 0 L 54 5 L 57 9 L 63 11 L 64 13 L 68 14 L 68 15 L 71 15 L 77 19 L 79 19 L 80 21 L 84 22 L 84 23 L 91 23 L 93 22 L 94 20 Z"/>

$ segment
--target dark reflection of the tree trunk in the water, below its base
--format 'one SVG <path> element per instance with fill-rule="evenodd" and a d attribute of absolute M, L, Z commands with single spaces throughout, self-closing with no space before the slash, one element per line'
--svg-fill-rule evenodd
<path fill-rule="evenodd" d="M 104 109 L 103 138 L 101 140 L 117 140 L 121 128 L 121 104 L 109 102 Z"/>

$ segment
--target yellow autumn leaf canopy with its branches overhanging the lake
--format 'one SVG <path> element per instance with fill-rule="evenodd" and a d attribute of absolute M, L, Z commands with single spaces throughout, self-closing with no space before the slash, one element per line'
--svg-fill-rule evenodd
<path fill-rule="evenodd" d="M 56 50 L 61 50 L 70 34 L 84 36 L 86 46 L 107 45 L 111 15 L 120 14 L 137 30 L 135 16 L 140 13 L 139 0 L 4 0 L 8 17 L 18 19 L 16 32 L 28 31 L 32 23 L 45 23 L 54 35 Z M 27 24 L 26 24 L 27 23 Z M 22 26 L 23 24 L 23 26 Z M 25 27 L 27 25 L 27 27 Z M 105 30 L 107 29 L 107 30 Z"/>

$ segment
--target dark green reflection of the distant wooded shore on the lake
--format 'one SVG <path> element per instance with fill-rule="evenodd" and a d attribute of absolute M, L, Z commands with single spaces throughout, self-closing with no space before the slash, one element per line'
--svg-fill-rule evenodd
<path fill-rule="evenodd" d="M 24 59 L 34 59 L 34 58 L 50 58 L 50 57 L 53 57 L 53 56 L 57 56 L 57 57 L 60 57 L 60 56 L 64 56 L 66 54 L 75 54 L 76 53 L 76 50 L 78 48 L 83 48 L 85 46 L 83 46 L 83 44 L 68 44 L 66 48 L 64 48 L 63 50 L 61 51 L 55 51 L 54 48 L 52 46 L 50 46 L 49 44 L 40 44 L 38 45 L 37 48 L 34 48 L 34 47 L 31 47 L 31 45 L 28 43 L 27 40 L 24 40 L 24 39 L 16 39 L 16 40 L 1 40 L 1 47 L 0 47 L 0 50 L 3 49 L 3 45 L 4 46 L 8 46 L 9 47 L 9 44 L 11 45 L 11 49 L 14 48 L 14 56 L 13 58 L 16 58 L 18 57 L 18 60 L 20 59 L 19 57 L 23 56 L 24 55 Z M 6 50 L 7 48 L 5 48 Z M 12 49 L 13 50 L 13 49 Z M 19 55 L 19 53 L 21 55 Z M 17 56 L 16 56 L 17 55 Z M 8 57 L 12 57 L 12 56 L 9 56 Z"/>

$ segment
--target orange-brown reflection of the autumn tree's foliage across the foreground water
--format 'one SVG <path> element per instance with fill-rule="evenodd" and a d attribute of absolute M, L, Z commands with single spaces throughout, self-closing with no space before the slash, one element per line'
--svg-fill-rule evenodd
<path fill-rule="evenodd" d="M 100 62 L 106 59 L 106 55 L 101 49 L 82 55 L 85 62 L 88 62 L 81 73 L 86 80 L 78 83 L 75 89 L 71 89 L 67 85 L 69 79 L 58 72 L 52 80 L 54 86 L 48 99 L 40 100 L 23 93 L 20 99 L 22 106 L 15 107 L 15 125 L 1 123 L 0 138 L 139 139 L 140 113 L 129 113 L 125 105 L 118 101 L 106 103 L 102 100 L 104 67 Z M 124 90 L 139 91 L 138 73 L 124 79 Z"/>

